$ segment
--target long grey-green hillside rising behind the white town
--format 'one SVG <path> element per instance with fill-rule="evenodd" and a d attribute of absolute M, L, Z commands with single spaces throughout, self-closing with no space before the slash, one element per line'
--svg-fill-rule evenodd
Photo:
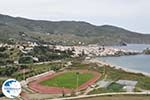
<path fill-rule="evenodd" d="M 131 32 L 123 28 L 95 26 L 80 21 L 43 21 L 0 14 L 1 42 L 37 41 L 51 44 L 99 43 L 116 45 L 126 43 L 150 43 L 150 35 Z"/>

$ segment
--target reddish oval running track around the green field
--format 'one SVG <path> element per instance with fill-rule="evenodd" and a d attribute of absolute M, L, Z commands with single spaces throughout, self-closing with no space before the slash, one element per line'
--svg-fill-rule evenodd
<path fill-rule="evenodd" d="M 78 90 L 84 90 L 87 87 L 89 87 L 90 85 L 92 85 L 93 83 L 95 83 L 99 78 L 100 78 L 100 73 L 96 72 L 96 71 L 89 71 L 89 70 L 75 70 L 78 71 L 80 73 L 92 73 L 94 75 L 94 77 L 92 79 L 90 79 L 89 81 L 85 82 L 84 84 L 82 84 L 81 86 L 79 86 Z M 30 82 L 29 83 L 29 88 L 31 88 L 32 90 L 38 92 L 38 93 L 50 93 L 50 94 L 62 94 L 64 93 L 71 93 L 72 89 L 68 89 L 68 88 L 61 88 L 61 87 L 50 87 L 50 86 L 44 86 L 41 85 L 40 82 L 47 80 L 47 79 L 51 79 L 57 75 L 61 75 L 65 72 L 59 72 L 59 73 L 55 73 L 55 74 L 48 74 L 47 76 L 41 76 L 39 77 L 36 81 Z M 75 89 L 75 91 L 77 91 L 77 89 Z"/>

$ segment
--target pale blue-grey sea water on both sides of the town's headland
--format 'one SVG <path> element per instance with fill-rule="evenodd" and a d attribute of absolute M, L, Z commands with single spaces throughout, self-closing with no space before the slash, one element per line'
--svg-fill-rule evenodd
<path fill-rule="evenodd" d="M 132 44 L 128 45 L 127 47 L 117 47 L 117 48 L 142 51 L 143 49 L 148 47 L 150 47 L 150 45 Z M 97 59 L 116 66 L 121 66 L 128 69 L 150 73 L 150 55 L 98 57 Z"/>

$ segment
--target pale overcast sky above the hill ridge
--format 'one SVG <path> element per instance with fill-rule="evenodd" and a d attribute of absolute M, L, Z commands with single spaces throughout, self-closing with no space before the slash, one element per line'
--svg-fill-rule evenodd
<path fill-rule="evenodd" d="M 0 13 L 50 21 L 86 21 L 150 34 L 150 0 L 0 0 Z"/>

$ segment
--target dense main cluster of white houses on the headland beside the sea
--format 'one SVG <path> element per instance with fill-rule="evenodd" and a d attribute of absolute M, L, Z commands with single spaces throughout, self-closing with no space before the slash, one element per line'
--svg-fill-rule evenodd
<path fill-rule="evenodd" d="M 88 57 L 93 56 L 114 56 L 118 52 L 123 53 L 138 53 L 137 51 L 133 50 L 125 50 L 125 49 L 119 49 L 119 48 L 113 48 L 113 47 L 103 47 L 103 46 L 55 46 L 55 49 L 66 51 L 66 50 L 72 50 L 74 53 L 74 56 L 77 57 L 79 55 L 87 55 Z"/>

